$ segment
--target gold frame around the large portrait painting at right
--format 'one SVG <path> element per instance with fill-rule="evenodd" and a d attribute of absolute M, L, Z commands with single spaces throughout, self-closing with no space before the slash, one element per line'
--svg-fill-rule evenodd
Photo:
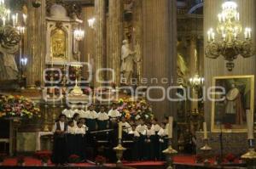
<path fill-rule="evenodd" d="M 231 80 L 231 79 L 248 79 L 249 80 L 249 84 L 250 84 L 250 110 L 251 112 L 254 113 L 254 76 L 253 75 L 250 75 L 250 76 L 215 76 L 213 77 L 213 80 L 212 80 L 212 87 L 216 87 L 216 82 L 218 80 Z M 220 125 L 216 125 L 215 124 L 215 110 L 216 110 L 216 93 L 215 93 L 215 90 L 214 90 L 214 96 L 212 97 L 212 123 L 211 123 L 211 130 L 212 132 L 247 132 L 247 124 L 246 125 L 243 125 L 244 127 L 241 127 L 241 128 L 231 128 L 231 129 L 226 129 L 224 128 L 224 125 L 221 124 Z M 253 118 L 253 113 L 252 113 L 252 118 Z M 235 126 L 235 125 L 234 125 Z M 236 125 L 237 127 L 238 125 Z"/>

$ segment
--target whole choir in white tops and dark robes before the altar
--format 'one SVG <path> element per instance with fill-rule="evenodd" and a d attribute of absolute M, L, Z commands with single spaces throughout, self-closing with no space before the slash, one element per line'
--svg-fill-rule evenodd
<path fill-rule="evenodd" d="M 164 160 L 161 152 L 167 148 L 168 142 L 169 124 L 166 118 L 160 124 L 156 118 L 127 120 L 119 113 L 117 104 L 112 104 L 112 109 L 108 113 L 105 112 L 103 105 L 97 113 L 94 105 L 90 105 L 89 110 L 84 111 L 80 104 L 77 110 L 63 110 L 55 122 L 52 161 L 56 165 L 64 165 L 70 155 L 79 155 L 82 161 L 89 159 L 90 155 L 85 153 L 86 149 L 96 149 L 96 144 L 92 141 L 92 132 L 108 134 L 108 137 L 103 134 L 103 138 L 108 138 L 109 145 L 115 147 L 118 144 L 119 121 L 123 127 L 123 143 L 125 140 L 131 140 L 131 144 L 126 145 L 129 149 L 125 152 L 125 160 Z M 115 161 L 114 153 L 108 154 L 108 157 L 110 161 Z"/>

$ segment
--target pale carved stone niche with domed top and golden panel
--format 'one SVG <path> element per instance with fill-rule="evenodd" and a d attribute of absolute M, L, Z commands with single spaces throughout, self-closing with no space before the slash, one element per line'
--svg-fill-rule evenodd
<path fill-rule="evenodd" d="M 63 65 L 76 61 L 78 45 L 73 39 L 73 30 L 81 20 L 69 18 L 66 8 L 54 3 L 46 22 L 46 65 Z"/>

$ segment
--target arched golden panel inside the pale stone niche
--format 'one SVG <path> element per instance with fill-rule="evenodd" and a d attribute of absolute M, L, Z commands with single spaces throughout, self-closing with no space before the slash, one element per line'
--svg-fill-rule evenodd
<path fill-rule="evenodd" d="M 67 58 L 67 35 L 66 31 L 56 28 L 50 33 L 50 55 L 53 59 Z"/>

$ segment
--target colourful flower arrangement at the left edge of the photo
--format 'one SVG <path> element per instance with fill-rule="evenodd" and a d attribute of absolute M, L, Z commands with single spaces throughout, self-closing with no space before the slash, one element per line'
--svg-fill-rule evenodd
<path fill-rule="evenodd" d="M 0 95 L 0 117 L 40 117 L 32 100 L 23 96 Z"/>

